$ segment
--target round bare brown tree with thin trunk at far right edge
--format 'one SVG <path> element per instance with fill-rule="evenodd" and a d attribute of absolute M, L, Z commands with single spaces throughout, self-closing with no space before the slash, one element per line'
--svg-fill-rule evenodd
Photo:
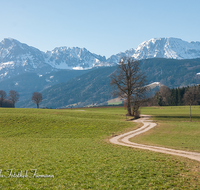
<path fill-rule="evenodd" d="M 190 105 L 190 121 L 192 121 L 191 116 L 191 105 L 198 105 L 200 101 L 200 87 L 193 86 L 190 87 L 187 92 L 185 92 L 183 96 L 183 101 L 185 105 Z"/>

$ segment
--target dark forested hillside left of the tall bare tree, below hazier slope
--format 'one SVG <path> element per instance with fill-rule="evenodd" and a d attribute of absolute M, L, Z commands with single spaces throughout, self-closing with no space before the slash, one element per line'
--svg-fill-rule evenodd
<path fill-rule="evenodd" d="M 54 85 L 42 91 L 40 107 L 65 108 L 100 104 L 111 98 L 109 75 L 116 67 L 93 69 L 88 73 Z M 17 107 L 35 107 L 31 101 L 20 102 Z"/>

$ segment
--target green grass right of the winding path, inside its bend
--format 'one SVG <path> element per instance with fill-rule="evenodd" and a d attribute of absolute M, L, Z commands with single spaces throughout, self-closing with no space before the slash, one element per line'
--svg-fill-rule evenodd
<path fill-rule="evenodd" d="M 200 106 L 192 106 L 192 122 L 188 106 L 142 108 L 142 113 L 158 125 L 132 141 L 200 152 Z"/>

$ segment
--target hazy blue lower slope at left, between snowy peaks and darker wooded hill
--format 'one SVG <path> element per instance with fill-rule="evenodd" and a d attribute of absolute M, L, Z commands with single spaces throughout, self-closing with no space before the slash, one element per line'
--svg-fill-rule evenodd
<path fill-rule="evenodd" d="M 0 82 L 0 90 L 7 92 L 15 90 L 20 95 L 20 101 L 31 100 L 33 92 L 40 92 L 55 84 L 64 83 L 76 76 L 90 70 L 59 70 L 50 74 L 38 75 L 36 73 L 24 73 Z"/>

